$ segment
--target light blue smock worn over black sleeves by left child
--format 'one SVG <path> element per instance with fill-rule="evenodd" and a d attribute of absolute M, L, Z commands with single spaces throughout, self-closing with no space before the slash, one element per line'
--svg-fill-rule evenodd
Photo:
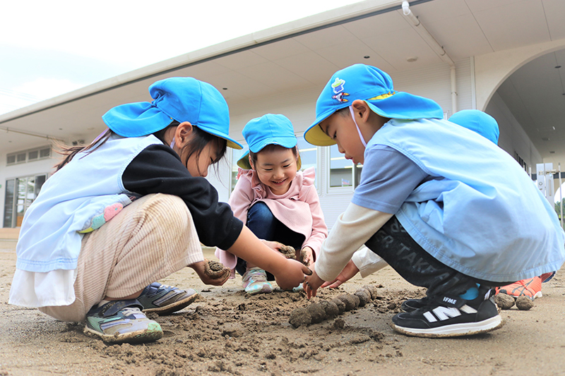
<path fill-rule="evenodd" d="M 128 205 L 133 193 L 121 176 L 145 147 L 162 142 L 153 135 L 112 135 L 95 152 L 81 152 L 49 177 L 25 212 L 16 268 L 28 272 L 76 269 L 83 234 L 112 205 Z M 100 223 L 98 224 L 100 225 Z"/>

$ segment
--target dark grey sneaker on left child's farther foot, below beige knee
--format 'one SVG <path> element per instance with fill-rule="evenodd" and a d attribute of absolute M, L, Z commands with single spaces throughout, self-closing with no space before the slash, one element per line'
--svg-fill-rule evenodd
<path fill-rule="evenodd" d="M 198 293 L 193 289 L 181 290 L 178 287 L 153 282 L 141 291 L 137 300 L 143 305 L 145 313 L 155 312 L 158 315 L 169 315 L 169 313 L 182 310 L 196 301 L 196 298 L 198 298 Z"/>

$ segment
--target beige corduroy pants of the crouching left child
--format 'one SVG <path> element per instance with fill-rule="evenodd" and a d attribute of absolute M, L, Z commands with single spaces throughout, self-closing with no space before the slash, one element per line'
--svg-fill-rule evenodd
<path fill-rule="evenodd" d="M 84 236 L 74 283 L 76 300 L 40 311 L 58 320 L 83 321 L 102 298 L 130 296 L 203 258 L 182 199 L 160 193 L 143 196 Z"/>

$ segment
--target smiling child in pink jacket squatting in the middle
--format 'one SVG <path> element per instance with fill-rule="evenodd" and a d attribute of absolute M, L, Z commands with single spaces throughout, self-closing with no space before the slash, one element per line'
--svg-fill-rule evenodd
<path fill-rule="evenodd" d="M 305 265 L 328 236 L 314 186 L 315 171 L 300 170 L 297 138 L 286 116 L 266 114 L 243 128 L 249 152 L 237 162 L 238 180 L 229 204 L 234 216 L 266 241 L 290 245 Z M 277 245 L 280 247 L 280 244 Z M 216 250 L 222 264 L 243 276 L 246 293 L 270 293 L 273 275 L 252 260 Z"/>

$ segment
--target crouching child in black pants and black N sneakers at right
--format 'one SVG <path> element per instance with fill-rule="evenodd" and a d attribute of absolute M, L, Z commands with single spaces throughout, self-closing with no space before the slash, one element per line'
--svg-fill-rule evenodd
<path fill-rule="evenodd" d="M 502 325 L 491 286 L 561 267 L 564 231 L 528 174 L 489 140 L 442 118 L 438 104 L 396 92 L 378 68 L 356 64 L 333 75 L 305 138 L 337 143 L 363 171 L 306 278 L 308 296 L 365 244 L 427 288 L 424 307 L 395 315 L 393 329 L 461 336 Z"/>

